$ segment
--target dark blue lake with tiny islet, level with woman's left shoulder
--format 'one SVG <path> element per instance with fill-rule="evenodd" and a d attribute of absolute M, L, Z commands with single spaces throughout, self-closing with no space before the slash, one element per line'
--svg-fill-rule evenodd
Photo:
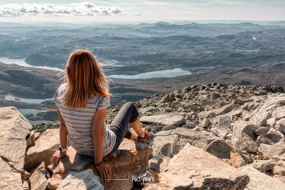
<path fill-rule="evenodd" d="M 30 92 L 4 92 L 0 93 L 5 96 L 5 100 L 15 100 L 15 98 L 20 99 L 20 102 L 26 103 L 41 103 L 45 100 L 53 100 L 54 97 L 41 93 L 30 93 Z"/>

